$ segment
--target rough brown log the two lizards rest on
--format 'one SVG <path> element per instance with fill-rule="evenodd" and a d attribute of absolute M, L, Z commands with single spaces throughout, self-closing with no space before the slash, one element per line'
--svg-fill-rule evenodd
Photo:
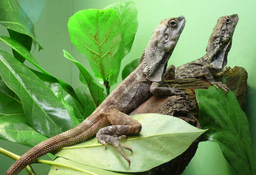
<path fill-rule="evenodd" d="M 200 124 L 198 122 L 199 108 L 197 105 L 195 90 L 198 88 L 209 88 L 211 85 L 205 79 L 173 79 L 172 71 L 167 71 L 167 75 L 165 77 L 165 83 L 168 83 L 171 87 L 177 85 L 176 88 L 184 88 L 183 91 L 187 92 L 188 95 L 163 97 L 151 96 L 147 101 L 132 111 L 130 115 L 141 113 L 171 115 L 200 128 Z M 243 104 L 248 94 L 247 72 L 244 68 L 235 67 L 232 70 L 228 70 L 222 76 L 215 78 L 215 80 L 226 84 L 227 87 L 236 94 L 239 104 Z M 181 175 L 191 159 L 194 157 L 199 140 L 200 139 L 195 140 L 180 156 L 155 167 L 150 171 L 138 173 L 138 175 Z"/>

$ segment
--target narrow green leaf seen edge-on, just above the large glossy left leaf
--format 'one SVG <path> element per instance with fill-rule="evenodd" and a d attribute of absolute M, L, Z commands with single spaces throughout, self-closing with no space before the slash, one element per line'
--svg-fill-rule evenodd
<path fill-rule="evenodd" d="M 0 41 L 4 42 L 6 45 L 8 45 L 9 47 L 11 47 L 13 50 L 15 50 L 17 53 L 19 53 L 21 56 L 23 56 L 26 60 L 28 60 L 31 64 L 33 64 L 37 69 L 41 70 L 43 73 L 52 76 L 50 73 L 48 73 L 46 70 L 42 69 L 39 66 L 39 63 L 37 62 L 37 60 L 32 56 L 32 54 L 24 47 L 22 46 L 18 41 L 9 38 L 7 36 L 0 36 Z M 76 98 L 78 100 L 78 97 L 74 91 L 74 89 L 67 83 L 59 80 L 58 78 L 52 76 L 53 78 L 55 78 L 59 84 L 61 85 L 61 87 L 68 92 L 69 94 L 71 94 L 74 98 Z"/>

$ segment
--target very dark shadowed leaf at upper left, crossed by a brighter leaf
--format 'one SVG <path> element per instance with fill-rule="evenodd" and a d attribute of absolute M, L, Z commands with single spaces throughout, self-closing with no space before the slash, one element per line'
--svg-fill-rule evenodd
<path fill-rule="evenodd" d="M 24 46 L 28 51 L 31 50 L 32 46 L 32 38 L 29 35 L 21 34 L 19 32 L 13 31 L 8 29 L 10 38 L 15 39 L 18 41 L 22 46 Z M 17 53 L 15 50 L 13 51 L 13 55 L 16 59 L 18 59 L 21 63 L 25 61 L 25 58 L 23 58 L 19 53 Z"/>

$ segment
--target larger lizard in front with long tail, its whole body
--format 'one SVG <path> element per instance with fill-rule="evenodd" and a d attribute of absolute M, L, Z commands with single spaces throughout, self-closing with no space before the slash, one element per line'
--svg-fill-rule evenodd
<path fill-rule="evenodd" d="M 184 94 L 176 88 L 160 87 L 167 62 L 184 25 L 183 16 L 162 20 L 153 32 L 138 68 L 125 78 L 88 118 L 75 128 L 44 140 L 31 148 L 9 168 L 5 175 L 17 175 L 36 158 L 91 138 L 96 133 L 99 142 L 105 146 L 107 143 L 113 144 L 130 166 L 130 159 L 122 152 L 121 147 L 132 150 L 122 145 L 119 140 L 129 134 L 138 134 L 141 124 L 127 113 L 140 105 L 151 93 Z"/>

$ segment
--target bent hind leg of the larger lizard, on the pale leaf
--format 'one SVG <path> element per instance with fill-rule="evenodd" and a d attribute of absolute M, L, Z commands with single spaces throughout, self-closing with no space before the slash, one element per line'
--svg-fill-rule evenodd
<path fill-rule="evenodd" d="M 101 128 L 96 134 L 96 138 L 100 143 L 105 145 L 105 148 L 107 148 L 107 143 L 111 143 L 115 146 L 121 156 L 127 160 L 130 167 L 131 161 L 123 153 L 121 147 L 130 150 L 132 153 L 133 150 L 130 147 L 121 144 L 119 140 L 126 138 L 126 135 L 138 134 L 142 126 L 137 120 L 122 113 L 116 108 L 109 109 L 107 118 L 112 125 Z"/>

